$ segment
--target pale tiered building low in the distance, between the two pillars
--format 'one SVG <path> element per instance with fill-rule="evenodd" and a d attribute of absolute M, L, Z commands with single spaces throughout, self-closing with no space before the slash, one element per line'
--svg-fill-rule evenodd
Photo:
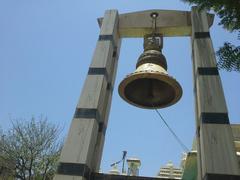
<path fill-rule="evenodd" d="M 182 179 L 182 173 L 182 168 L 174 167 L 173 163 L 170 161 L 166 166 L 160 168 L 157 177 L 163 179 Z"/>

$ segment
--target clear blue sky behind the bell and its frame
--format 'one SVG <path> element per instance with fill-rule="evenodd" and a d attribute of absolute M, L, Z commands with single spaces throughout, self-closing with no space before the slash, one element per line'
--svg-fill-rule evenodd
<path fill-rule="evenodd" d="M 96 19 L 107 9 L 119 13 L 147 10 L 190 10 L 180 0 L 1 0 L 0 1 L 0 125 L 10 119 L 44 115 L 64 127 L 67 134 L 98 39 Z M 211 36 L 215 49 L 224 41 L 239 43 L 217 25 Z M 117 80 L 101 169 L 128 157 L 142 161 L 141 175 L 154 176 L 161 165 L 178 165 L 183 150 L 152 110 L 124 102 L 118 95 L 120 81 L 135 70 L 142 53 L 142 39 L 123 39 Z M 165 38 L 163 53 L 169 74 L 183 88 L 182 99 L 160 110 L 169 125 L 190 148 L 195 132 L 190 38 Z M 239 123 L 239 73 L 221 71 L 231 123 Z"/>

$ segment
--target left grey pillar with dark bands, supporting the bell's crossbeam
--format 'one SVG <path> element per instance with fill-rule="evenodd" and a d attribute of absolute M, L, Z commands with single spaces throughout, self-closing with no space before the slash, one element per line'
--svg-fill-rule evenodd
<path fill-rule="evenodd" d="M 117 26 L 117 10 L 106 11 L 55 180 L 90 179 L 99 169 L 120 49 Z"/>

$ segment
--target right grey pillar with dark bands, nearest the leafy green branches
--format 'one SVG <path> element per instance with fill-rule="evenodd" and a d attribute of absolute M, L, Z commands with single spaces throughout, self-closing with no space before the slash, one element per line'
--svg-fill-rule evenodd
<path fill-rule="evenodd" d="M 193 7 L 191 21 L 199 174 L 203 180 L 237 180 L 239 165 L 207 13 Z"/>

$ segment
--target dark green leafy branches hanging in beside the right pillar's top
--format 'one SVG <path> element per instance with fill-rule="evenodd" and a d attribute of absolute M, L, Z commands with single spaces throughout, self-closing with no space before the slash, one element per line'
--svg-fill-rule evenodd
<path fill-rule="evenodd" d="M 240 0 L 182 0 L 199 6 L 200 9 L 213 10 L 220 23 L 230 32 L 238 32 L 240 40 Z M 227 71 L 240 72 L 240 46 L 225 42 L 216 52 L 218 67 Z"/>

